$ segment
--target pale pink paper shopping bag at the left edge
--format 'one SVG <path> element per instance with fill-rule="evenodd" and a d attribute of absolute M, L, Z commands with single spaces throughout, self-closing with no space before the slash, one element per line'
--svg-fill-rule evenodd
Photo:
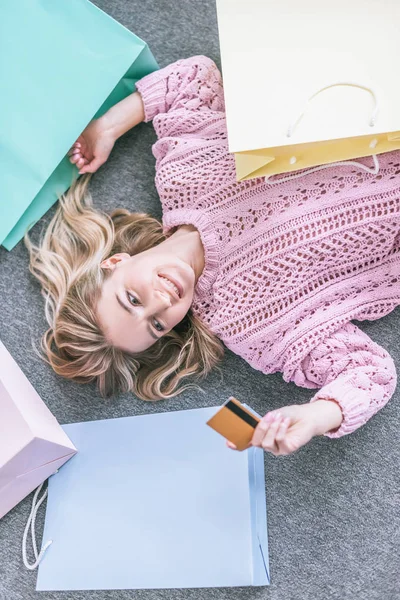
<path fill-rule="evenodd" d="M 0 519 L 75 453 L 0 342 Z"/>

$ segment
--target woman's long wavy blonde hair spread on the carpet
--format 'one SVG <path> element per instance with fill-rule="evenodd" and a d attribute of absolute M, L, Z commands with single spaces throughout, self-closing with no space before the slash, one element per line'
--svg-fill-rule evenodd
<path fill-rule="evenodd" d="M 176 396 L 189 376 L 204 377 L 222 358 L 223 346 L 192 313 L 146 351 L 130 354 L 112 346 L 101 331 L 96 305 L 108 269 L 103 260 L 118 252 L 143 252 L 166 239 L 153 217 L 93 208 L 90 175 L 60 198 L 38 245 L 28 235 L 30 271 L 40 281 L 49 329 L 41 340 L 54 371 L 80 383 L 96 381 L 110 396 L 132 391 L 143 400 Z"/>

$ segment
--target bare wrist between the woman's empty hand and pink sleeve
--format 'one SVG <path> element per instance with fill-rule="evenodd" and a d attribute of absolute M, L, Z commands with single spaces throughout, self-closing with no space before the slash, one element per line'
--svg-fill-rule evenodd
<path fill-rule="evenodd" d="M 144 105 L 139 92 L 130 94 L 112 106 L 99 121 L 104 132 L 115 140 L 144 121 Z"/>

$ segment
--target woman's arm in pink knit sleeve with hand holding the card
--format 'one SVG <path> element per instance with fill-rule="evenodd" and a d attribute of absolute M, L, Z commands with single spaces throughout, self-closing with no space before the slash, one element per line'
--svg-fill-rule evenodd
<path fill-rule="evenodd" d="M 321 389 L 310 402 L 284 406 L 261 419 L 252 445 L 276 456 L 295 452 L 316 435 L 337 438 L 353 432 L 388 402 L 397 381 L 388 352 L 352 323 L 318 344 L 294 368 L 284 368 L 283 376 L 302 387 Z"/>

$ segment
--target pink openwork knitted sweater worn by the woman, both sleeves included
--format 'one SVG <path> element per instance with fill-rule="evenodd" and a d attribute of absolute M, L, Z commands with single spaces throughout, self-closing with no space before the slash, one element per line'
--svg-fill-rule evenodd
<path fill-rule="evenodd" d="M 332 167 L 240 183 L 210 59 L 179 60 L 137 89 L 158 136 L 165 229 L 193 224 L 204 245 L 194 313 L 255 369 L 338 402 L 328 436 L 354 431 L 396 387 L 390 355 L 350 321 L 400 304 L 400 153 L 381 155 L 378 175 Z"/>

